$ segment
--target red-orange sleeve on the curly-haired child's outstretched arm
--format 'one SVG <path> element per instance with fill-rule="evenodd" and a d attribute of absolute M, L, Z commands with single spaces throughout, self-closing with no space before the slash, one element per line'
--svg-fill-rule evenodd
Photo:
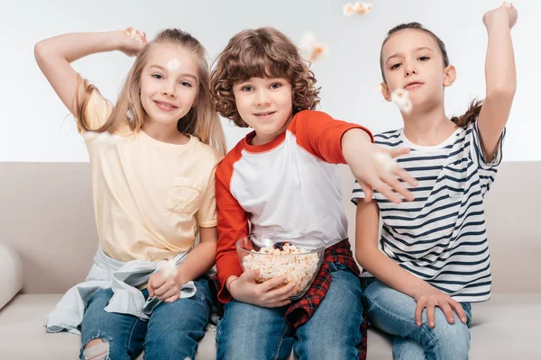
<path fill-rule="evenodd" d="M 347 130 L 365 130 L 374 141 L 371 131 L 363 126 L 335 120 L 325 112 L 312 110 L 295 114 L 288 129 L 295 134 L 300 147 L 331 164 L 345 164 L 342 137 Z"/>

